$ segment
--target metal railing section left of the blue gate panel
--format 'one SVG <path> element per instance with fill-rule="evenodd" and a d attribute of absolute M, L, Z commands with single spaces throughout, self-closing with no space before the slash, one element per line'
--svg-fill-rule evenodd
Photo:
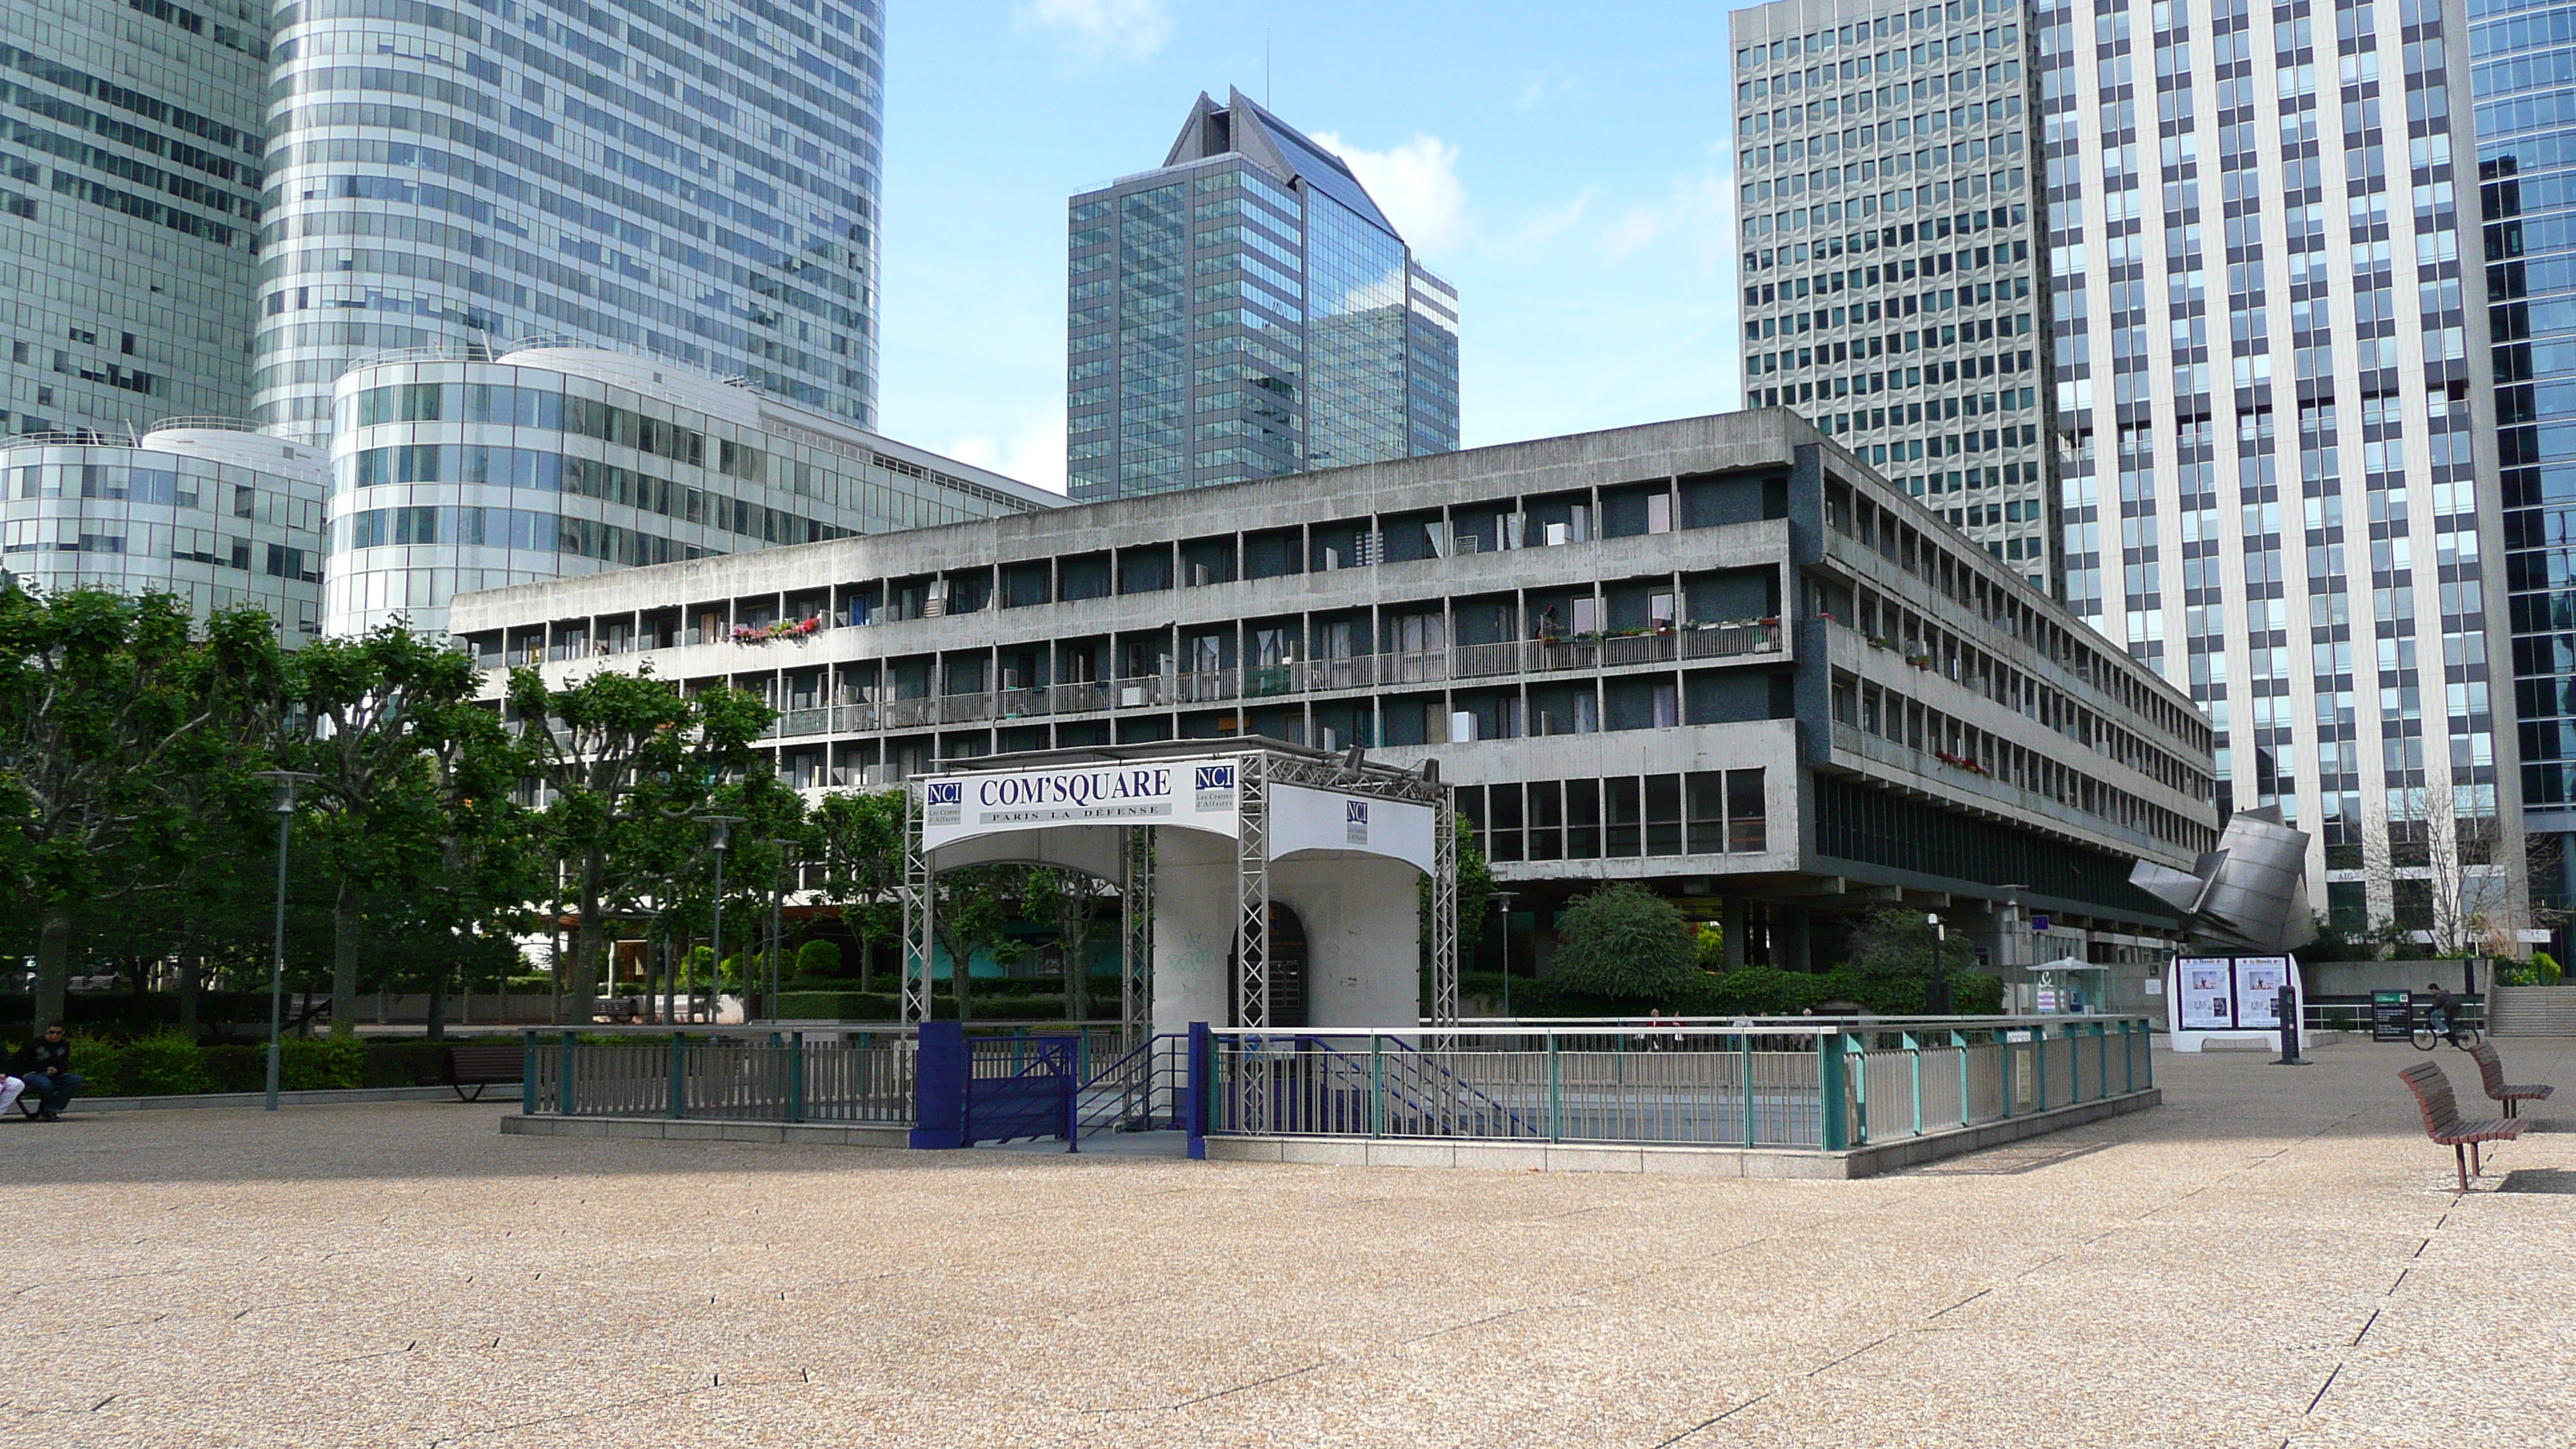
<path fill-rule="evenodd" d="M 806 1042 L 801 1031 L 528 1031 L 520 1111 L 714 1122 L 912 1124 L 909 1031 Z"/>

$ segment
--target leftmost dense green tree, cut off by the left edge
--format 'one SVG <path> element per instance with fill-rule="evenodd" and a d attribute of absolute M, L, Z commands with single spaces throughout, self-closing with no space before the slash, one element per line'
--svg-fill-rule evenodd
<path fill-rule="evenodd" d="M 167 593 L 0 588 L 0 859 L 36 923 L 36 1021 L 62 1016 L 77 913 L 173 879 L 198 825 L 185 786 L 242 768 L 276 668 L 258 608 L 198 637 Z"/>

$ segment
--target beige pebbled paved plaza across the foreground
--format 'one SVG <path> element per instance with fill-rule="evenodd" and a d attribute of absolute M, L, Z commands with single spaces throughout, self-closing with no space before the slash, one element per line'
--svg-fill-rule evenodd
<path fill-rule="evenodd" d="M 2468 1196 L 2396 1080 L 1870 1181 L 502 1137 L 495 1106 L 0 1127 L 52 1446 L 2566 1444 L 2576 1042 Z M 2445 1049 L 2476 1098 L 2476 1067 Z M 2568 1127 L 2561 1127 L 2568 1124 Z"/>

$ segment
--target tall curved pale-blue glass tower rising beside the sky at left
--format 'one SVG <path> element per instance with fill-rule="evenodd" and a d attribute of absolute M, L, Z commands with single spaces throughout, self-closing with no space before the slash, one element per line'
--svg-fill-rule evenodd
<path fill-rule="evenodd" d="M 878 0 L 276 10 L 255 405 L 564 338 L 876 420 Z"/>

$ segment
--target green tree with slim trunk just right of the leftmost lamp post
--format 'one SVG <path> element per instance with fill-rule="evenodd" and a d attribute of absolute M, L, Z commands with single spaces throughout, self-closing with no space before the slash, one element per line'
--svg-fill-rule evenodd
<path fill-rule="evenodd" d="M 358 1031 L 358 959 L 371 892 L 410 892 L 440 866 L 446 812 L 435 753 L 482 683 L 474 660 L 402 619 L 355 639 L 314 639 L 286 665 L 301 732 L 286 758 L 312 771 L 304 802 L 340 892 L 332 900 L 332 1036 Z"/>

